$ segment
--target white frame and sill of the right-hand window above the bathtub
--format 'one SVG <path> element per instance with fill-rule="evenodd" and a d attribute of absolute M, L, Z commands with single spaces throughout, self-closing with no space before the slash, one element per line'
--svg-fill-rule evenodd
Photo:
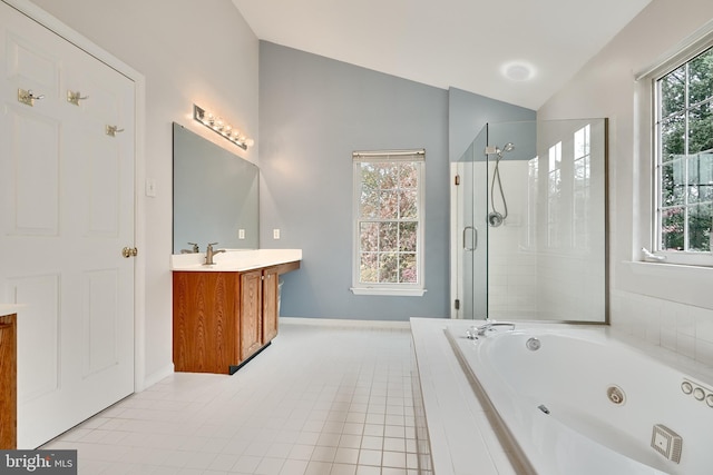
<path fill-rule="evenodd" d="M 713 267 L 713 246 L 709 251 L 688 251 L 688 250 L 666 250 L 661 248 L 662 244 L 662 226 L 661 226 L 661 209 L 663 207 L 663 190 L 662 190 L 662 168 L 664 166 L 662 141 L 661 141 L 661 128 L 660 123 L 663 120 L 661 117 L 661 87 L 660 80 L 668 73 L 675 71 L 682 66 L 687 65 L 699 56 L 706 53 L 713 48 L 713 32 L 704 34 L 699 40 L 683 47 L 678 52 L 672 56 L 666 61 L 663 61 L 657 67 L 649 69 L 647 72 L 637 77 L 637 80 L 646 79 L 646 83 L 651 88 L 651 112 L 648 117 L 648 123 L 651 127 L 651 215 L 649 215 L 649 234 L 648 249 L 643 249 L 642 259 L 644 261 L 652 261 L 658 264 L 683 265 L 683 266 L 699 266 L 699 267 Z M 686 91 L 686 106 L 684 111 L 688 110 L 688 92 Z M 645 236 L 644 236 L 645 237 Z"/>

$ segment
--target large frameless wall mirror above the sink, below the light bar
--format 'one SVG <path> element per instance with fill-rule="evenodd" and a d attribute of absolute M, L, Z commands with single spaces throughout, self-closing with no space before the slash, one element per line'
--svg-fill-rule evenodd
<path fill-rule="evenodd" d="M 174 122 L 174 254 L 257 249 L 260 170 Z"/>

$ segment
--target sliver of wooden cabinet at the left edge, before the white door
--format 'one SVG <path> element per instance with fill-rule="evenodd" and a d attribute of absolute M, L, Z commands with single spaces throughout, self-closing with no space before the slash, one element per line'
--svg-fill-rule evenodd
<path fill-rule="evenodd" d="M 17 316 L 0 316 L 0 449 L 17 448 Z"/>

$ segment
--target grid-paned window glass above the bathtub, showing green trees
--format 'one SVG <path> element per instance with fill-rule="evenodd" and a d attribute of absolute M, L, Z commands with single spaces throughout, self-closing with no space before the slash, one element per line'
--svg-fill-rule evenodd
<path fill-rule="evenodd" d="M 656 82 L 656 250 L 711 251 L 713 48 Z"/>

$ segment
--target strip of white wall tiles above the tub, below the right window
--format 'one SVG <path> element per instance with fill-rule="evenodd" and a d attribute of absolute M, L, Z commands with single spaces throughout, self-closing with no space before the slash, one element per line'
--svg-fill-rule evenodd
<path fill-rule="evenodd" d="M 713 366 L 713 310 L 627 291 L 611 298 L 613 327 Z"/>

